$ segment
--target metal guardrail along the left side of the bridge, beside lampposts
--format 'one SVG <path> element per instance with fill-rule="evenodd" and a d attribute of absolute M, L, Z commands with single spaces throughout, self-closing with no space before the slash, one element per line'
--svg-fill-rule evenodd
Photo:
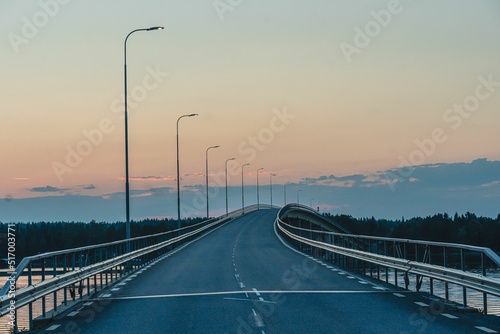
<path fill-rule="evenodd" d="M 26 257 L 0 291 L 0 316 L 13 314 L 13 331 L 16 332 L 16 313 L 28 307 L 28 327 L 32 329 L 35 301 L 41 300 L 42 318 L 47 317 L 49 311 L 52 311 L 53 317 L 65 310 L 68 302 L 90 297 L 169 250 L 259 208 L 268 209 L 270 206 L 253 205 L 228 215 L 154 235 Z M 24 276 L 28 277 L 27 285 L 17 287 L 19 278 Z M 58 292 L 61 290 L 63 296 L 59 301 L 61 297 Z M 46 303 L 48 295 L 52 295 L 52 306 Z"/>

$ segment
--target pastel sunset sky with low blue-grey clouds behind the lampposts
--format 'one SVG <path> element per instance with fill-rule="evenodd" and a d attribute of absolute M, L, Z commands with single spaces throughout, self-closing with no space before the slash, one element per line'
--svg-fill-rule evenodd
<path fill-rule="evenodd" d="M 263 167 L 278 205 L 288 183 L 354 216 L 500 213 L 499 1 L 29 0 L 0 2 L 0 221 L 125 219 L 123 44 L 151 26 L 127 42 L 132 218 L 175 216 L 191 113 L 185 215 L 213 145 L 214 214 L 232 157 L 232 209 L 250 163 L 247 204 Z"/>

